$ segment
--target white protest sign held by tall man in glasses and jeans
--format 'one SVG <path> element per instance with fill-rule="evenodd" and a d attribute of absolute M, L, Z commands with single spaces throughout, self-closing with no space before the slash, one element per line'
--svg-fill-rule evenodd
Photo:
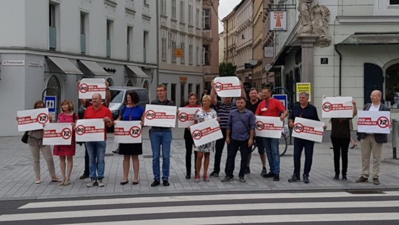
<path fill-rule="evenodd" d="M 146 105 L 145 126 L 175 127 L 176 106 Z"/>

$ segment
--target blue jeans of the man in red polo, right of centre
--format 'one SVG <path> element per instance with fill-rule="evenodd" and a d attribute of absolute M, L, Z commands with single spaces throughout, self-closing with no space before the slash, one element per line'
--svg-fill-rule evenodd
<path fill-rule="evenodd" d="M 263 146 L 266 148 L 267 161 L 269 161 L 270 172 L 274 174 L 280 173 L 280 153 L 278 144 L 280 139 L 263 137 Z"/>

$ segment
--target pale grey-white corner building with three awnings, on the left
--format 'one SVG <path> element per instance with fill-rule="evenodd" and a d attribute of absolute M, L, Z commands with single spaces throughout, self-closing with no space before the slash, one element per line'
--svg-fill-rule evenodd
<path fill-rule="evenodd" d="M 153 0 L 2 0 L 0 136 L 18 135 L 16 111 L 42 94 L 71 99 L 76 81 L 107 79 L 155 98 L 157 4 Z M 48 87 L 54 89 L 44 90 Z M 55 91 L 56 90 L 56 91 Z M 44 93 L 43 93 L 44 92 Z M 58 93 L 57 93 L 58 92 Z"/>

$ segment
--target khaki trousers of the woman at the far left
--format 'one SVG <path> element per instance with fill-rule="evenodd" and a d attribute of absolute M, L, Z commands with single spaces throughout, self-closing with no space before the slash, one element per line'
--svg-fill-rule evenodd
<path fill-rule="evenodd" d="M 55 177 L 53 155 L 49 145 L 31 146 L 29 145 L 30 153 L 32 154 L 33 171 L 36 177 L 40 177 L 40 149 L 44 160 L 47 162 L 48 173 L 51 177 Z"/>

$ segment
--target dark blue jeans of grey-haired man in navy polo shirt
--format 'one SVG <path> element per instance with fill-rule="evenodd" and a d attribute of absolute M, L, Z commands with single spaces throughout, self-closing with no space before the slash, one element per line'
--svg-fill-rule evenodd
<path fill-rule="evenodd" d="M 312 167 L 313 146 L 315 142 L 301 138 L 294 138 L 294 176 L 299 177 L 301 170 L 301 154 L 305 148 L 305 168 L 303 176 L 309 177 L 310 168 Z"/>

